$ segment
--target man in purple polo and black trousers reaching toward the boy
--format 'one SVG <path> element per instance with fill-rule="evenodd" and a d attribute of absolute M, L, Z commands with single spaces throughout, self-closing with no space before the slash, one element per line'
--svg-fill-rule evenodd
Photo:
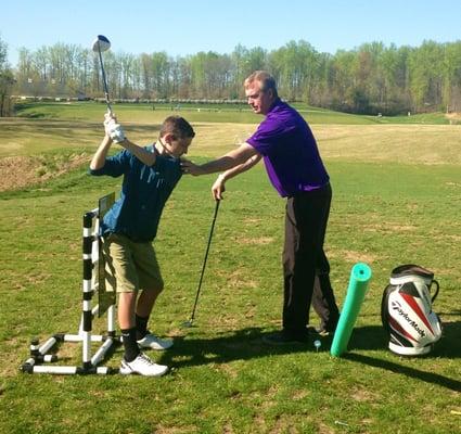
<path fill-rule="evenodd" d="M 212 187 L 214 197 L 221 200 L 228 179 L 264 158 L 272 186 L 287 199 L 283 329 L 264 340 L 273 344 L 306 342 L 311 303 L 321 318 L 321 334 L 334 332 L 340 316 L 323 251 L 332 196 L 330 178 L 309 126 L 279 98 L 274 79 L 256 71 L 244 87 L 253 111 L 266 116 L 255 133 L 220 158 L 201 166 L 183 162 L 182 168 L 192 175 L 223 170 Z"/>

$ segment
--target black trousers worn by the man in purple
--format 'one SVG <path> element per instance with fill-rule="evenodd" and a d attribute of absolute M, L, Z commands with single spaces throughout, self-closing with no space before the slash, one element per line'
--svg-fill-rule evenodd
<path fill-rule="evenodd" d="M 312 304 L 321 327 L 336 327 L 340 312 L 330 282 L 330 264 L 323 251 L 330 215 L 330 184 L 290 196 L 286 201 L 283 248 L 283 330 L 306 333 Z"/>

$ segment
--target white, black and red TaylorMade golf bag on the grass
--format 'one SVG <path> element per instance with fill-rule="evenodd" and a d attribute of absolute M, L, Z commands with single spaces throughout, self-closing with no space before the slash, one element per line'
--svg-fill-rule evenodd
<path fill-rule="evenodd" d="M 431 297 L 431 286 L 435 293 Z M 383 327 L 389 335 L 389 349 L 402 356 L 421 356 L 441 337 L 441 323 L 432 311 L 438 294 L 434 273 L 418 265 L 394 268 L 381 305 Z"/>

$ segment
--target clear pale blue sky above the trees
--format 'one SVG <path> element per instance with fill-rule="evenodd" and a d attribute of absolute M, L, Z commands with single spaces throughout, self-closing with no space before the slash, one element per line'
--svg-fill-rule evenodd
<path fill-rule="evenodd" d="M 371 41 L 460 40 L 460 0 L 13 0 L 1 7 L 0 38 L 13 66 L 21 47 L 90 48 L 99 34 L 133 54 L 231 53 L 239 43 L 272 50 L 300 39 L 335 53 Z"/>

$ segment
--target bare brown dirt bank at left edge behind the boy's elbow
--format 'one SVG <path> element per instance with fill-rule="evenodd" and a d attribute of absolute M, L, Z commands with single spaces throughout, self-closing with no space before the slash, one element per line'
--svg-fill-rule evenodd
<path fill-rule="evenodd" d="M 89 163 L 88 154 L 46 158 L 41 156 L 7 156 L 0 158 L 0 191 L 20 190 L 56 178 Z"/>

